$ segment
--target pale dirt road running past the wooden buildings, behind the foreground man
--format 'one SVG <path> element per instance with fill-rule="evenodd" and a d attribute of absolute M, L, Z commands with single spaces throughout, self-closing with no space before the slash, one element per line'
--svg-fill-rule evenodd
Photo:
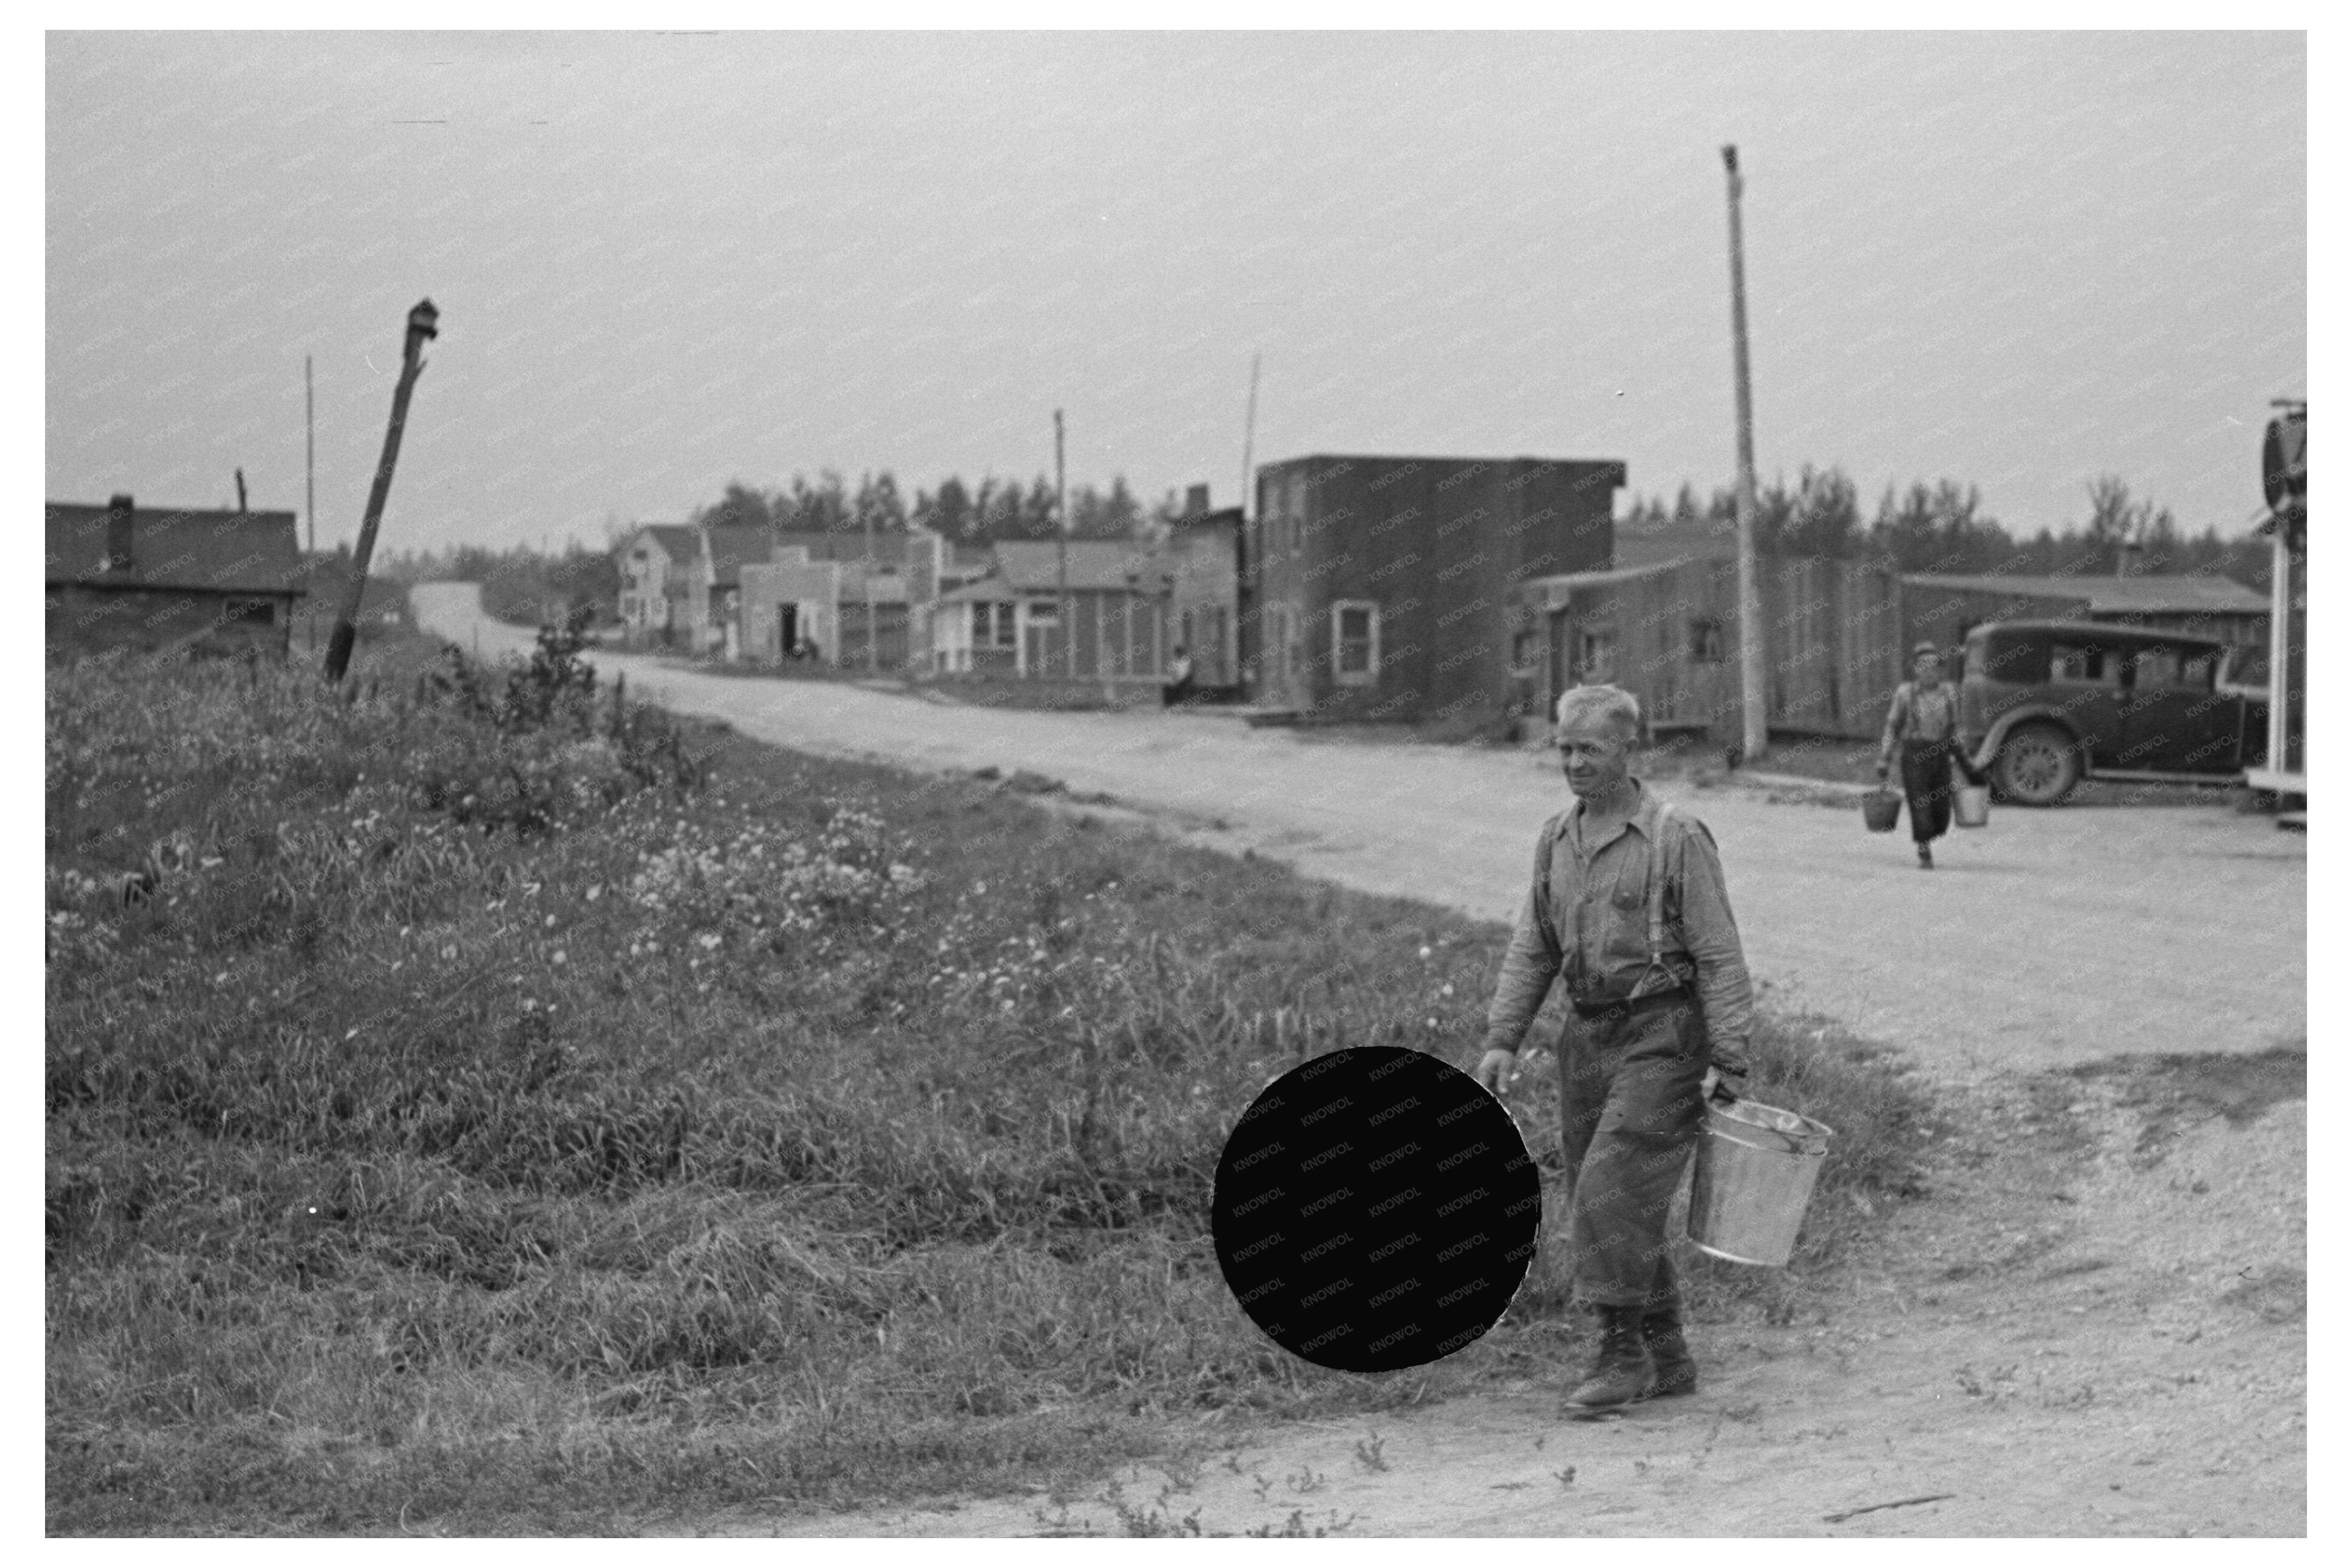
<path fill-rule="evenodd" d="M 426 630 L 527 649 L 466 585 L 421 585 Z M 797 750 L 917 769 L 1030 769 L 1202 844 L 1345 886 L 1510 919 L 1534 830 L 1566 788 L 1529 752 L 1357 745 L 1230 715 L 1004 712 L 835 682 L 703 675 L 597 654 L 630 691 Z M 1783 1004 L 1907 1048 L 1945 1081 L 2117 1053 L 2256 1051 L 2303 1034 L 2303 837 L 2213 806 L 2002 809 L 1912 867 L 1858 811 L 1750 788 L 1693 809 L 1755 976 Z"/>

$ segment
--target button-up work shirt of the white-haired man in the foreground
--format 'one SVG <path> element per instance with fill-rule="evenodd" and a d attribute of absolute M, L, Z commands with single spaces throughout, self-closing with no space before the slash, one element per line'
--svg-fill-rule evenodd
<path fill-rule="evenodd" d="M 1552 839 L 1552 879 L 1538 889 L 1529 877 L 1486 1009 L 1489 1051 L 1519 1048 L 1552 976 L 1566 978 L 1571 997 L 1623 997 L 1649 969 L 1649 844 L 1661 823 L 1658 797 L 1639 783 L 1635 790 L 1632 820 L 1599 844 L 1583 835 L 1583 802 L 1543 825 L 1543 837 Z M 1538 898 L 1550 931 L 1538 917 Z M 1665 820 L 1663 959 L 1677 980 L 1696 985 L 1715 1063 L 1745 1067 L 1748 959 L 1731 924 L 1715 837 L 1682 811 Z"/>

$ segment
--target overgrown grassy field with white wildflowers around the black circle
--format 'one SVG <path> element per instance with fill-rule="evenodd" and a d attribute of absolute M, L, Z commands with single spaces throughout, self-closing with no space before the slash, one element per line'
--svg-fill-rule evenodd
<path fill-rule="evenodd" d="M 52 665 L 52 1530 L 1011 1488 L 1557 1371 L 1541 1279 L 1435 1368 L 1303 1366 L 1204 1229 L 1270 1077 L 1470 1058 L 1501 931 L 682 731 L 569 654 Z M 1839 1154 L 1790 1276 L 1693 1269 L 1715 1316 L 1828 1288 L 1926 1121 L 1828 1025 L 1757 1058 Z"/>

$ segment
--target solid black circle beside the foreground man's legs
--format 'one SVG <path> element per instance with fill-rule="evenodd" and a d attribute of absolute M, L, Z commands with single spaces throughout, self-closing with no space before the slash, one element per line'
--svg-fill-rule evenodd
<path fill-rule="evenodd" d="M 1510 1112 L 1402 1046 L 1334 1051 L 1268 1084 L 1225 1140 L 1209 1208 L 1242 1312 L 1345 1373 L 1423 1366 L 1486 1333 L 1541 1222 Z"/>

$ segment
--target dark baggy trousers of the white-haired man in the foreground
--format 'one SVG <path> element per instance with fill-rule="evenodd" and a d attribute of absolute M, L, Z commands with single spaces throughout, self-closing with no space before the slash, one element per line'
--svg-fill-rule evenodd
<path fill-rule="evenodd" d="M 1665 1237 L 1705 1105 L 1708 1034 L 1698 997 L 1569 1013 L 1559 1039 L 1559 1138 L 1569 1164 L 1576 1300 L 1668 1307 L 1677 1300 Z"/>

